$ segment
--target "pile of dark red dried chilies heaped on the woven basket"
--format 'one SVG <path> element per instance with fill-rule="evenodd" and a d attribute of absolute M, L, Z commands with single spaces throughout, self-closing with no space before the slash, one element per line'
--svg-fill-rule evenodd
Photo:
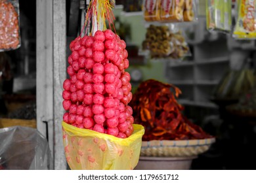
<path fill-rule="evenodd" d="M 145 127 L 142 141 L 211 138 L 181 114 L 184 108 L 176 100 L 180 94 L 181 90 L 176 86 L 157 80 L 146 80 L 140 84 L 130 106 L 135 123 Z"/>

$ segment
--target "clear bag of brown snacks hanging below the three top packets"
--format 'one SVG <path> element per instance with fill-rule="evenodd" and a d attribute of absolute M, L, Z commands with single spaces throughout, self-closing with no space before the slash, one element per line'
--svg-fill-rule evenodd
<path fill-rule="evenodd" d="M 190 56 L 190 49 L 181 29 L 177 25 L 150 25 L 146 32 L 146 40 L 142 42 L 143 50 L 150 50 L 152 58 L 180 59 Z"/>

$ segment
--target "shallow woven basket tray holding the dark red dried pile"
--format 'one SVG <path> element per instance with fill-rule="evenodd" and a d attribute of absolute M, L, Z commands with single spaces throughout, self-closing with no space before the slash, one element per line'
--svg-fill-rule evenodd
<path fill-rule="evenodd" d="M 140 156 L 197 156 L 209 150 L 215 138 L 188 141 L 142 141 Z"/>

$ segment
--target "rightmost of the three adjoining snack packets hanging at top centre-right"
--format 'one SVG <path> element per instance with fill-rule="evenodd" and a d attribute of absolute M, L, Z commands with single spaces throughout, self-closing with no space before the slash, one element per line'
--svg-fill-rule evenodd
<path fill-rule="evenodd" d="M 192 22 L 196 20 L 196 2 L 194 0 L 185 0 L 184 6 L 184 22 Z"/>

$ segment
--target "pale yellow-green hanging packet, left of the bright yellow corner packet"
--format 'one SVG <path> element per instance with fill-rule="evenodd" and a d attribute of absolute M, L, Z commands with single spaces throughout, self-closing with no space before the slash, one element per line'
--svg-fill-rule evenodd
<path fill-rule="evenodd" d="M 209 31 L 230 32 L 232 25 L 231 0 L 206 1 L 206 25 Z"/>

